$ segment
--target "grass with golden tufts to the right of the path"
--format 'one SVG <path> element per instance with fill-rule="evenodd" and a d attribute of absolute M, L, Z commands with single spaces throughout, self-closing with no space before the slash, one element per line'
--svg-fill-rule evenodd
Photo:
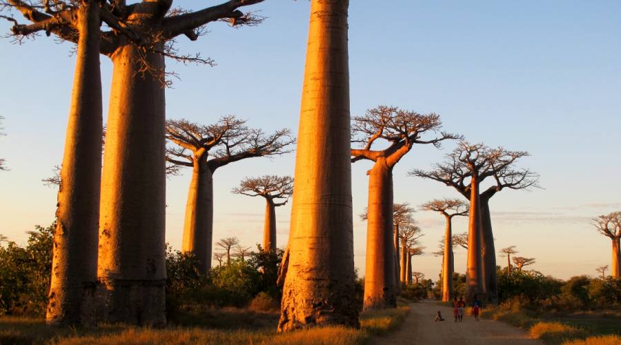
<path fill-rule="evenodd" d="M 483 317 L 524 328 L 546 344 L 621 344 L 621 313 L 543 313 L 525 308 L 487 308 Z"/>

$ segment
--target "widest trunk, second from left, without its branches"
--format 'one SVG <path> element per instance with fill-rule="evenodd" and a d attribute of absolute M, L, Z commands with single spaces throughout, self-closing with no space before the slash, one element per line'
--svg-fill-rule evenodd
<path fill-rule="evenodd" d="M 161 47 L 159 47 L 161 48 Z M 103 155 L 99 220 L 100 313 L 105 322 L 166 324 L 164 88 L 141 74 L 139 52 L 121 45 Z M 146 53 L 150 66 L 164 57 Z"/>

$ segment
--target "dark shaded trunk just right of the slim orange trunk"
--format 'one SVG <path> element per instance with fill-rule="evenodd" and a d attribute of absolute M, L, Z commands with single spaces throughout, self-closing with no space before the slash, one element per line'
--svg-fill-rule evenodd
<path fill-rule="evenodd" d="M 481 229 L 482 229 L 482 264 L 483 282 L 487 299 L 490 303 L 498 303 L 498 281 L 496 273 L 496 250 L 494 247 L 494 234 L 491 226 L 489 213 L 489 199 L 480 197 L 481 206 Z"/>

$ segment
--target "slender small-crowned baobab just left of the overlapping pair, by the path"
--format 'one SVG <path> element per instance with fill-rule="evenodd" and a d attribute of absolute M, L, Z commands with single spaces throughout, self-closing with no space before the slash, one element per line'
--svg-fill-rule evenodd
<path fill-rule="evenodd" d="M 420 208 L 438 212 L 446 219 L 444 253 L 442 255 L 442 301 L 450 301 L 453 298 L 453 272 L 455 272 L 452 221 L 455 216 L 468 215 L 469 207 L 460 199 L 434 199 L 422 204 Z"/>

